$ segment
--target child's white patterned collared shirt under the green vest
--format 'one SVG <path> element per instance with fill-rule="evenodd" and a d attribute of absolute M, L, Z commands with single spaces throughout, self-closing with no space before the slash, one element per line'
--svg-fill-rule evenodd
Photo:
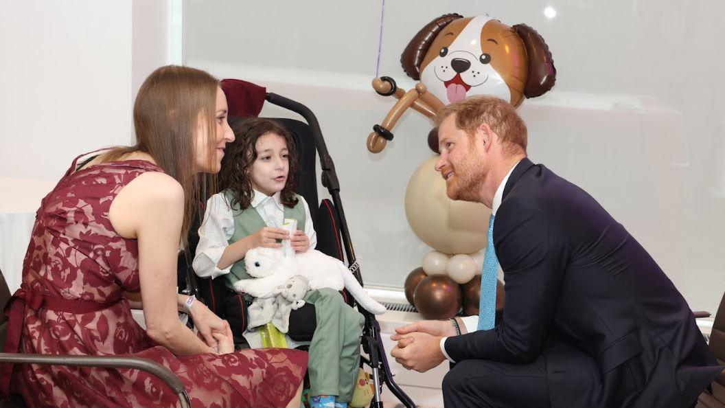
<path fill-rule="evenodd" d="M 268 227 L 281 227 L 284 221 L 284 205 L 281 202 L 280 192 L 268 196 L 256 189 L 253 191 L 254 196 L 250 204 L 252 208 L 260 214 Z M 302 198 L 302 204 L 305 205 L 305 234 L 310 238 L 310 249 L 315 249 L 317 234 L 312 226 L 310 207 L 307 206 L 304 198 Z M 219 269 L 217 265 L 233 234 L 234 217 L 231 205 L 223 192 L 212 195 L 207 200 L 204 221 L 199 227 L 199 245 L 196 245 L 196 256 L 191 263 L 197 276 L 212 277 L 213 279 L 231 271 L 233 264 L 224 269 Z"/>

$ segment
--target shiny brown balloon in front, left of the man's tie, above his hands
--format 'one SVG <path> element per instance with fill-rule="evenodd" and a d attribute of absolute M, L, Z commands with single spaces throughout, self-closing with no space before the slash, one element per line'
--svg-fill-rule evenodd
<path fill-rule="evenodd" d="M 460 310 L 460 285 L 446 275 L 424 277 L 413 292 L 413 303 L 426 319 L 448 319 Z"/>

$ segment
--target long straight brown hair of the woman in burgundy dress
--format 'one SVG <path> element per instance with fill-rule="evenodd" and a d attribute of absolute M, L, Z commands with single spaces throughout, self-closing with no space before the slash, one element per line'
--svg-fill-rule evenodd
<path fill-rule="evenodd" d="M 185 203 L 181 241 L 196 216 L 201 191 L 210 178 L 196 174 L 196 134 L 206 130 L 208 163 L 215 160 L 215 110 L 219 81 L 202 70 L 167 65 L 158 68 L 141 85 L 133 105 L 136 144 L 116 147 L 103 161 L 117 160 L 130 152 L 149 154 L 166 174 L 183 187 Z M 204 128 L 199 128 L 199 121 Z"/>

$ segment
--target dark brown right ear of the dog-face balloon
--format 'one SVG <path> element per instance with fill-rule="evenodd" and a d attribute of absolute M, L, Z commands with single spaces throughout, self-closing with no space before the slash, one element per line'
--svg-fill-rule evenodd
<path fill-rule="evenodd" d="M 526 80 L 523 95 L 527 98 L 540 97 L 556 82 L 556 68 L 549 46 L 534 28 L 526 24 L 514 25 L 513 29 L 521 37 L 529 57 L 529 79 Z"/>

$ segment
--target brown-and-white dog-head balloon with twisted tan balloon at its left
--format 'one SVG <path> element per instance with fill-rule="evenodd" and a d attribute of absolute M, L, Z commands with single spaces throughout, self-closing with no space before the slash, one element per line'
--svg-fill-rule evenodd
<path fill-rule="evenodd" d="M 393 126 L 409 107 L 433 118 L 445 105 L 481 94 L 518 106 L 524 98 L 549 91 L 556 79 L 549 47 L 539 33 L 488 16 L 436 18 L 413 37 L 400 62 L 407 76 L 420 82 L 405 91 L 392 78 L 373 79 L 378 94 L 399 99 L 368 136 L 373 153 L 393 138 Z"/>

